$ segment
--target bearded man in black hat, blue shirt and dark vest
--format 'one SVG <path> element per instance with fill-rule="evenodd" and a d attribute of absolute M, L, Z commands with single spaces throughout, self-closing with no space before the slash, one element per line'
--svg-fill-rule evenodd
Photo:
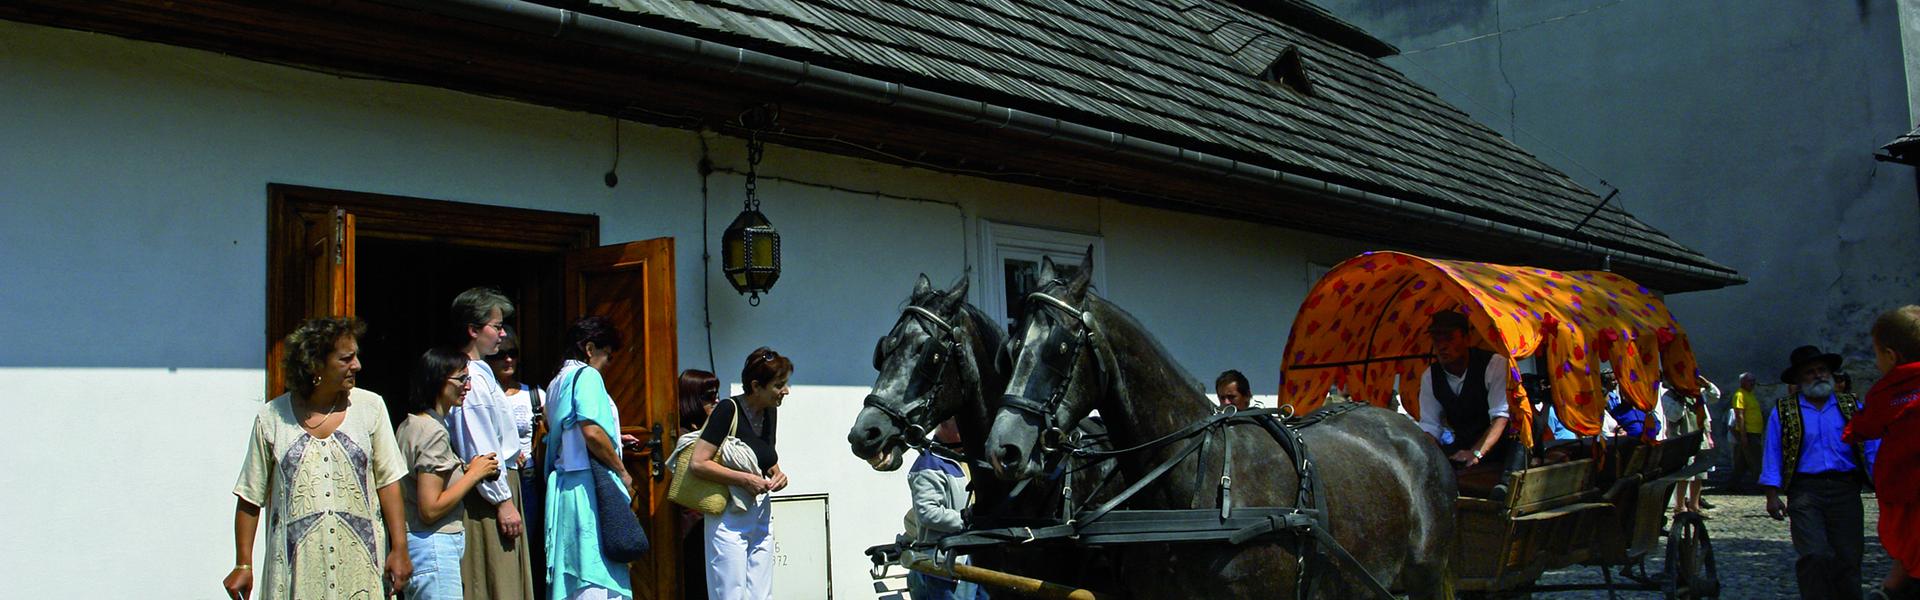
<path fill-rule="evenodd" d="M 1870 467 L 1870 452 L 1862 450 L 1872 448 L 1841 440 L 1859 404 L 1853 394 L 1834 392 L 1839 363 L 1839 354 L 1793 348 L 1780 381 L 1797 385 L 1799 394 L 1780 398 L 1766 415 L 1761 487 L 1766 515 L 1791 519 L 1801 598 L 1860 598 L 1860 487 Z"/>

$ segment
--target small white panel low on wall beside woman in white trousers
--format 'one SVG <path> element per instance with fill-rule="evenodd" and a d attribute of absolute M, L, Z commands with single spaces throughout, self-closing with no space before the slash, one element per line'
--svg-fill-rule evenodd
<path fill-rule="evenodd" d="M 774 598 L 833 598 L 828 496 L 774 498 Z"/>

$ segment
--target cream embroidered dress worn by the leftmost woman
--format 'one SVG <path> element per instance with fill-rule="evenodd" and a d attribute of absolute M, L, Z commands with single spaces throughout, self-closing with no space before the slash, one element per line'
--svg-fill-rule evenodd
<path fill-rule="evenodd" d="M 403 475 L 380 394 L 351 390 L 346 421 L 324 438 L 300 427 L 290 394 L 267 402 L 234 485 L 265 515 L 253 598 L 384 598 L 386 525 L 374 490 Z"/>

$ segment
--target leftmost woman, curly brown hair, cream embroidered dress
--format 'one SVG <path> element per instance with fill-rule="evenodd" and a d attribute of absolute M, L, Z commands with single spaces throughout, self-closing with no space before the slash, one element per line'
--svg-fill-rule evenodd
<path fill-rule="evenodd" d="M 234 483 L 230 598 L 380 598 L 405 587 L 407 475 L 386 402 L 355 388 L 359 338 L 353 317 L 311 319 L 286 337 L 286 394 L 253 417 Z M 253 531 L 267 519 L 267 558 L 253 592 Z"/>

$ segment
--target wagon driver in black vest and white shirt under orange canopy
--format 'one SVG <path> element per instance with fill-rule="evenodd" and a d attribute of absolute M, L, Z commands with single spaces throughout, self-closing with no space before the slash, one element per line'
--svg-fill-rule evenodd
<path fill-rule="evenodd" d="M 1507 437 L 1507 358 L 1473 348 L 1473 327 L 1459 312 L 1436 312 L 1427 325 L 1434 365 L 1421 373 L 1421 431 L 1427 431 L 1459 469 L 1524 465 Z M 1446 438 L 1444 429 L 1453 437 Z M 1496 490 L 1498 494 L 1498 490 Z"/>

